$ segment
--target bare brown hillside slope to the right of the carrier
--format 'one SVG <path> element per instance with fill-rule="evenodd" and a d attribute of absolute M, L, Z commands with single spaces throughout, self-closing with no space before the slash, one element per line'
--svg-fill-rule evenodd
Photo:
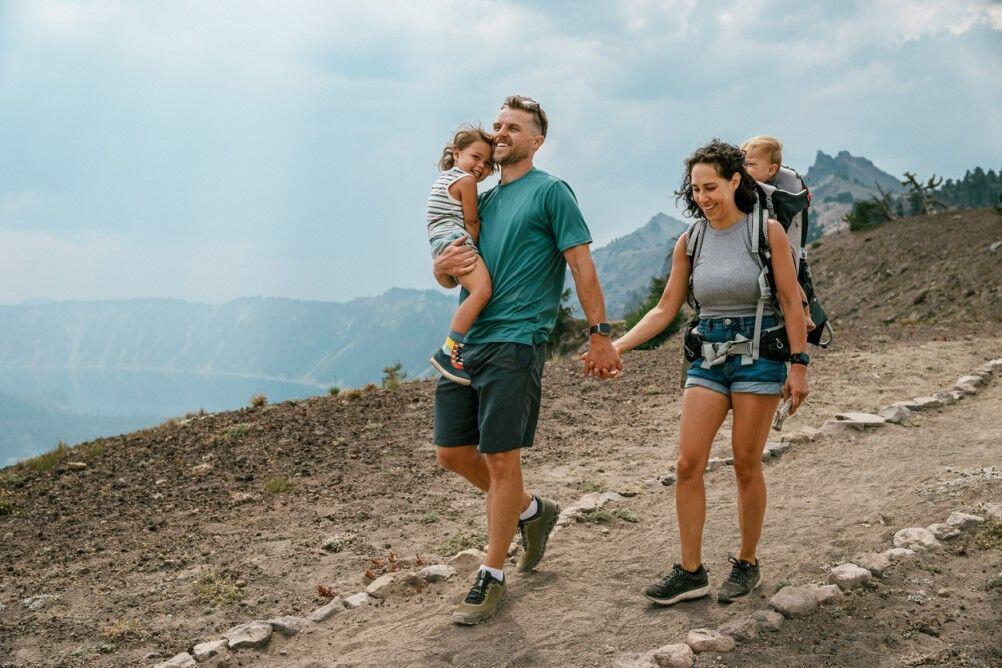
<path fill-rule="evenodd" d="M 815 283 L 844 332 L 989 333 L 1002 321 L 1002 215 L 947 211 L 844 231 L 810 250 Z"/>

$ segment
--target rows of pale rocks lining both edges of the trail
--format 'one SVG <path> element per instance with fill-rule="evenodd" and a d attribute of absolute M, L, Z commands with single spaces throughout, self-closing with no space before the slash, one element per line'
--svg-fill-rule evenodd
<path fill-rule="evenodd" d="M 959 378 L 951 390 L 941 391 L 941 393 L 938 393 L 937 396 L 919 397 L 912 400 L 899 401 L 884 407 L 881 409 L 881 413 L 890 413 L 893 414 L 895 418 L 900 418 L 900 420 L 894 421 L 895 423 L 900 424 L 914 413 L 927 412 L 942 409 L 946 406 L 953 406 L 964 397 L 981 394 L 982 389 L 988 387 L 991 384 L 994 375 L 999 373 L 1002 373 L 1002 359 L 991 360 L 985 365 L 979 367 L 971 375 Z M 962 387 L 964 388 L 964 391 L 960 390 Z M 902 411 L 906 411 L 907 414 L 901 415 Z M 875 428 L 883 427 L 891 422 L 892 421 L 889 419 L 880 415 L 861 412 L 840 413 L 836 415 L 835 420 L 826 422 L 820 430 L 802 431 L 793 435 L 785 435 L 786 443 L 768 444 L 763 460 L 769 461 L 773 458 L 780 457 L 791 448 L 791 442 L 812 443 L 817 441 L 822 435 L 832 437 L 849 432 L 866 432 Z M 727 458 L 713 458 L 711 460 L 712 466 L 707 466 L 707 474 L 722 466 L 728 466 L 731 463 L 732 460 L 728 461 Z M 670 482 L 671 479 L 665 478 L 662 479 L 661 484 L 667 486 Z M 630 492 L 628 492 L 625 496 L 612 491 L 585 494 L 575 504 L 566 507 L 561 512 L 558 527 L 555 531 L 558 532 L 560 529 L 575 523 L 587 523 L 589 516 L 593 516 L 593 514 L 598 513 L 607 505 L 618 504 L 619 502 L 624 501 L 627 496 L 636 496 L 635 490 L 639 488 L 624 486 L 624 489 L 630 490 Z M 989 505 L 988 509 L 989 515 L 993 520 L 1002 521 L 1002 508 L 998 505 Z M 633 514 L 633 517 L 636 517 L 635 514 Z M 635 520 L 633 521 L 635 522 Z M 769 605 L 774 611 L 779 612 L 784 618 L 797 620 L 808 617 L 812 615 L 819 606 L 838 605 L 844 599 L 844 593 L 856 590 L 865 583 L 869 582 L 872 577 L 883 577 L 884 574 L 891 568 L 892 564 L 898 563 L 899 565 L 902 565 L 911 563 L 912 560 L 909 558 L 914 557 L 918 553 L 938 552 L 942 550 L 943 545 L 940 543 L 940 539 L 934 535 L 934 532 L 939 532 L 940 536 L 944 540 L 949 540 L 959 536 L 961 530 L 969 530 L 981 525 L 984 522 L 984 517 L 954 511 L 949 515 L 949 517 L 945 518 L 944 523 L 933 524 L 928 529 L 922 527 L 901 529 L 894 534 L 893 547 L 889 547 L 887 551 L 879 554 L 869 553 L 861 555 L 857 561 L 862 562 L 864 566 L 850 561 L 839 563 L 828 570 L 827 580 L 830 584 L 825 585 L 810 583 L 803 586 L 784 586 L 780 588 L 779 592 L 770 599 Z M 514 546 L 512 554 L 514 554 Z M 479 565 L 483 553 L 479 551 L 466 550 L 453 557 L 449 563 L 459 565 L 460 572 L 466 574 Z M 866 568 L 867 564 L 872 567 L 872 570 Z M 441 574 L 442 577 L 435 577 L 430 580 L 428 575 L 432 572 L 435 572 L 437 575 Z M 388 573 L 370 584 L 366 592 L 362 592 L 355 596 L 358 597 L 368 595 L 373 599 L 386 601 L 394 594 L 399 595 L 402 590 L 409 590 L 410 593 L 420 592 L 429 582 L 448 580 L 455 573 L 456 569 L 451 568 L 451 566 L 441 565 L 430 566 L 423 569 L 422 575 L 424 575 L 424 577 L 414 573 Z M 313 622 L 323 623 L 335 614 L 340 614 L 343 611 L 343 608 L 354 609 L 357 607 L 358 606 L 345 605 L 345 602 L 339 597 L 322 608 L 319 608 L 314 613 L 311 613 L 309 618 Z M 738 610 L 741 609 L 741 606 L 739 605 L 734 607 Z M 615 665 L 619 668 L 648 668 L 665 665 L 691 666 L 694 663 L 695 654 L 723 654 L 731 652 L 736 648 L 738 642 L 754 641 L 759 637 L 760 633 L 769 630 L 777 630 L 782 625 L 782 618 L 763 617 L 763 613 L 767 612 L 768 611 L 760 610 L 753 614 L 745 610 L 745 614 L 730 617 L 728 621 L 720 624 L 716 629 L 693 628 L 687 632 L 680 642 L 668 643 L 646 652 L 633 652 L 620 655 L 615 659 Z M 303 621 L 306 623 L 306 620 Z M 501 622 L 498 620 L 494 623 L 499 624 Z M 304 630 L 304 626 L 305 625 L 296 625 L 291 632 L 284 632 L 283 635 L 295 635 L 299 631 Z M 268 641 L 272 636 L 273 627 L 275 627 L 276 630 L 280 628 L 280 626 L 274 623 L 274 620 L 272 624 L 261 621 L 249 622 L 224 633 L 223 637 L 226 641 L 228 641 L 228 649 L 231 650 L 241 648 L 262 648 L 268 644 Z M 311 632 L 323 632 L 323 629 L 310 628 L 309 630 Z M 502 631 L 504 632 L 503 629 Z M 218 642 L 218 640 L 213 640 L 196 646 L 193 650 L 194 656 L 187 652 L 179 653 L 171 659 L 157 664 L 156 668 L 194 666 L 196 665 L 194 657 L 198 656 L 198 647 L 212 647 L 211 653 L 202 653 L 203 659 L 207 660 L 212 657 L 218 657 L 220 656 L 218 649 L 221 649 L 219 648 Z M 283 663 L 288 661 L 290 662 L 290 665 L 292 665 L 291 662 L 295 661 L 295 659 L 289 658 L 291 651 L 291 646 L 284 647 L 279 650 L 280 655 L 285 657 L 283 659 Z M 267 659 L 263 660 L 267 661 Z M 352 662 L 349 661 L 349 663 Z M 317 665 L 323 664 L 321 663 Z"/>

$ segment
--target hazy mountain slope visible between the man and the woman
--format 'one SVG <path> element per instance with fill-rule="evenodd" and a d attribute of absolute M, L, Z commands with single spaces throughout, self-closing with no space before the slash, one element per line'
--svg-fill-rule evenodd
<path fill-rule="evenodd" d="M 629 234 L 592 250 L 609 318 L 623 317 L 646 295 L 651 277 L 667 272 L 671 265 L 671 248 L 685 227 L 681 220 L 658 212 Z M 565 284 L 573 292 L 574 282 L 569 271 Z M 572 300 L 575 314 L 581 316 L 576 294 L 572 295 Z"/>

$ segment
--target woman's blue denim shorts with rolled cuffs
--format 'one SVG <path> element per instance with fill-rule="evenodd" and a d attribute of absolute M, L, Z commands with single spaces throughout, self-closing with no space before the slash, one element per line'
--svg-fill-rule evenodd
<path fill-rule="evenodd" d="M 767 315 L 762 319 L 762 326 L 775 326 L 778 320 L 775 315 Z M 733 341 L 738 335 L 752 339 L 755 335 L 755 315 L 746 317 L 711 317 L 699 318 L 699 332 L 703 341 L 718 344 Z M 685 387 L 706 388 L 721 395 L 729 396 L 732 392 L 749 395 L 782 395 L 783 385 L 787 381 L 787 364 L 759 358 L 750 365 L 741 366 L 739 355 L 727 356 L 720 365 L 703 369 L 702 358 L 689 365 L 685 377 Z"/>

